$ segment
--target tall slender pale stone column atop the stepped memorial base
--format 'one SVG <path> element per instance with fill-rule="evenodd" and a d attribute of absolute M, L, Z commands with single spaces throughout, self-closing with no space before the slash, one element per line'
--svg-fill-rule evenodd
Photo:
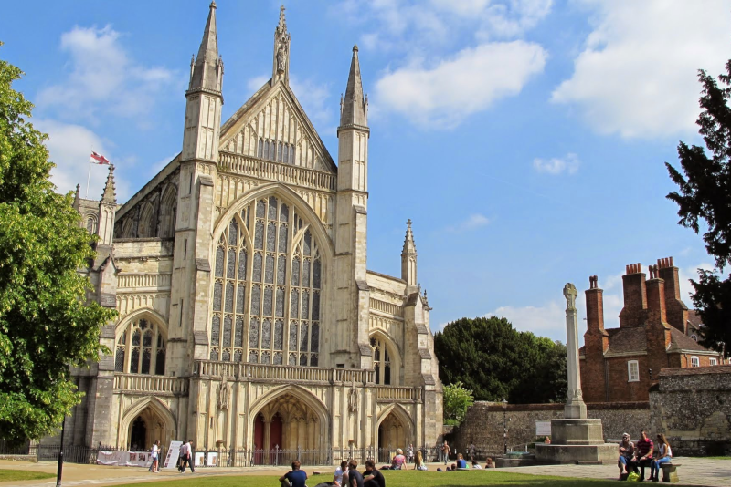
<path fill-rule="evenodd" d="M 578 368 L 578 322 L 577 288 L 571 283 L 564 286 L 566 297 L 566 347 L 568 390 L 564 406 L 564 418 L 584 420 L 587 418 L 587 405 L 581 395 L 581 376 Z"/>

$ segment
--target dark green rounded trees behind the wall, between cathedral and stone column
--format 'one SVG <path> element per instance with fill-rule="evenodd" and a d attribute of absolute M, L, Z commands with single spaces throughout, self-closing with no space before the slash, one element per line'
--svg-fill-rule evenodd
<path fill-rule="evenodd" d="M 519 332 L 505 318 L 461 318 L 434 336 L 445 384 L 461 382 L 477 400 L 516 404 L 563 401 L 566 347 Z"/>

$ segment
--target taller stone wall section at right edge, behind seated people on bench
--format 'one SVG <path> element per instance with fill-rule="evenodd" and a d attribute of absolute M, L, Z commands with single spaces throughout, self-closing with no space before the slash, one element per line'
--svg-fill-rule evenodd
<path fill-rule="evenodd" d="M 663 369 L 650 404 L 674 454 L 731 453 L 731 366 Z"/>

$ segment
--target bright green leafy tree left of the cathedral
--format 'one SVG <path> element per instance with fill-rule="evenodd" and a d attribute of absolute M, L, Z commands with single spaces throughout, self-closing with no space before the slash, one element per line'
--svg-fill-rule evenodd
<path fill-rule="evenodd" d="M 0 60 L 0 438 L 11 442 L 52 432 L 79 403 L 69 367 L 99 357 L 114 316 L 85 303 L 89 234 L 49 181 L 47 136 L 12 88 L 21 76 Z"/>

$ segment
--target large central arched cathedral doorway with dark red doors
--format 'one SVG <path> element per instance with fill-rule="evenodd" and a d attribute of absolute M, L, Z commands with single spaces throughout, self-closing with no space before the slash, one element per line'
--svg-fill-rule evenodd
<path fill-rule="evenodd" d="M 281 465 L 298 454 L 302 463 L 321 461 L 326 455 L 325 418 L 322 410 L 291 392 L 271 399 L 253 420 L 257 464 Z"/>

